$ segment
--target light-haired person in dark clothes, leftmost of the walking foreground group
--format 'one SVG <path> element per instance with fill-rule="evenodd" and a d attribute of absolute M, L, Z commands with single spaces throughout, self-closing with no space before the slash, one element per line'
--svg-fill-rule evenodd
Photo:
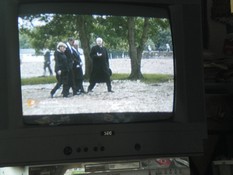
<path fill-rule="evenodd" d="M 69 62 L 65 55 L 66 47 L 65 43 L 59 42 L 57 50 L 54 52 L 57 83 L 50 92 L 52 98 L 61 85 L 63 85 L 63 97 L 68 97 L 69 95 Z"/>

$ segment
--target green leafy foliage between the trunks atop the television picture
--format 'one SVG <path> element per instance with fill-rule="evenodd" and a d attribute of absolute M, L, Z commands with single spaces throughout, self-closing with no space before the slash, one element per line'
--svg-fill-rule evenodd
<path fill-rule="evenodd" d="M 20 47 L 25 47 L 25 37 L 28 46 L 36 51 L 49 48 L 53 50 L 60 41 L 66 41 L 72 36 L 80 38 L 80 23 L 78 14 L 37 14 L 22 17 L 20 25 Z M 111 50 L 128 51 L 127 18 L 119 16 L 83 15 L 86 33 L 90 43 L 95 43 L 96 37 L 102 37 L 105 46 Z M 135 41 L 139 42 L 143 28 L 142 17 L 135 18 Z M 36 22 L 35 22 L 36 21 Z M 149 19 L 148 39 L 153 43 L 163 45 L 169 43 L 171 38 L 165 38 L 169 29 L 169 22 L 165 19 Z"/>

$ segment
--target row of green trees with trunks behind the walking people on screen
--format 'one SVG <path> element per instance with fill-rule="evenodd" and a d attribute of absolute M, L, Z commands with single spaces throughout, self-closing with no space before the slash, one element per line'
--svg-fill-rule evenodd
<path fill-rule="evenodd" d="M 171 45 L 170 25 L 167 19 L 148 17 L 120 17 L 77 14 L 38 14 L 20 18 L 20 47 L 32 47 L 36 51 L 54 50 L 60 41 L 72 36 L 80 41 L 85 57 L 85 76 L 89 77 L 90 48 L 96 37 L 104 40 L 109 50 L 129 53 L 130 79 L 141 79 L 141 59 L 148 46 L 159 48 Z M 36 22 L 35 22 L 36 21 Z"/>

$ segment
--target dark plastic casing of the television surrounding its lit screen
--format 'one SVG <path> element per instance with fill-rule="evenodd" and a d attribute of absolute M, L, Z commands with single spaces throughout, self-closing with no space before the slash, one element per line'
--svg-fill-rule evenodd
<path fill-rule="evenodd" d="M 60 4 L 64 1 L 50 2 Z M 94 0 L 69 2 L 92 5 L 97 3 Z M 3 65 L 1 65 L 0 71 L 3 74 L 3 90 L 6 92 L 1 92 L 2 101 L 6 103 L 4 104 L 5 108 L 1 111 L 4 117 L 0 119 L 3 122 L 0 124 L 1 166 L 190 156 L 203 152 L 202 141 L 206 137 L 206 126 L 202 70 L 201 0 L 98 1 L 98 4 L 104 3 L 107 4 L 107 7 L 111 7 L 112 4 L 120 6 L 127 4 L 132 7 L 147 4 L 163 5 L 169 8 L 173 41 L 175 42 L 175 81 L 177 82 L 172 120 L 55 127 L 26 127 L 19 117 L 22 113 L 19 107 L 21 99 L 20 70 L 19 60 L 16 61 L 15 57 L 19 56 L 17 18 L 19 5 L 22 3 L 46 4 L 47 1 L 1 1 L 1 5 L 3 5 L 1 11 L 4 14 L 1 19 L 5 21 L 5 25 L 1 27 L 3 33 L 0 34 L 5 41 L 1 51 L 5 59 L 1 59 Z M 47 6 L 44 5 L 44 7 Z M 191 31 L 190 28 L 192 28 Z M 98 148 L 98 151 L 94 148 Z"/>

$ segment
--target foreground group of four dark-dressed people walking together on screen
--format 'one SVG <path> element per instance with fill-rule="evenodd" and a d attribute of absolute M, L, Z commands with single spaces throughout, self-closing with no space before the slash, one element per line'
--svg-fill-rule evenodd
<path fill-rule="evenodd" d="M 111 69 L 109 68 L 108 53 L 103 47 L 103 40 L 96 39 L 96 46 L 90 52 L 92 71 L 87 92 L 91 92 L 96 83 L 105 82 L 108 92 L 113 92 L 111 87 Z M 55 73 L 57 83 L 51 90 L 51 97 L 62 86 L 63 97 L 68 97 L 70 89 L 73 95 L 86 93 L 83 87 L 82 60 L 78 51 L 78 43 L 73 38 L 68 38 L 66 43 L 59 42 L 54 52 Z"/>

